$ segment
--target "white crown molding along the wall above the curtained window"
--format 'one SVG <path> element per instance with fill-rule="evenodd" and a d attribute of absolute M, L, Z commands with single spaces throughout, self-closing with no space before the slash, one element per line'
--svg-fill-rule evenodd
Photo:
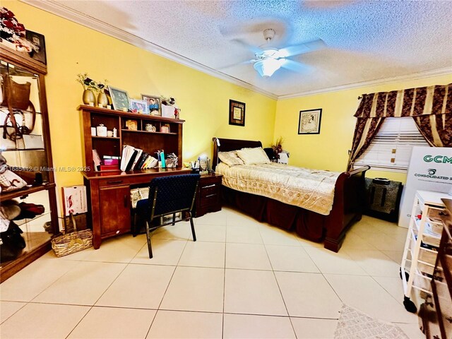
<path fill-rule="evenodd" d="M 446 67 L 444 69 L 433 69 L 431 71 L 422 71 L 422 72 L 408 74 L 406 76 L 393 76 L 391 78 L 380 78 L 380 79 L 370 80 L 370 81 L 361 81 L 359 83 L 348 83 L 347 85 L 334 86 L 334 87 L 330 87 L 330 88 L 322 88 L 320 90 L 308 90 L 306 92 L 299 92 L 299 93 L 287 94 L 287 95 L 279 95 L 278 100 L 293 99 L 295 97 L 307 97 L 309 95 L 338 92 L 340 90 L 352 90 L 353 88 L 383 85 L 386 83 L 395 83 L 398 81 L 410 81 L 410 80 L 417 80 L 417 79 L 422 79 L 422 78 L 430 78 L 432 76 L 446 76 L 448 74 L 452 76 L 452 68 L 451 67 Z"/>

